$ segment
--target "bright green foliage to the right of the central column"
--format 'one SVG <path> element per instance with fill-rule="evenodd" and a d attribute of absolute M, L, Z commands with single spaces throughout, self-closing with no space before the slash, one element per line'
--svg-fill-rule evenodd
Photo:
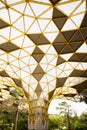
<path fill-rule="evenodd" d="M 75 115 L 70 117 L 72 130 L 87 130 L 87 112 L 82 113 L 80 117 Z M 60 115 L 49 115 L 49 130 L 63 130 L 63 127 L 66 126 L 65 116 Z M 67 129 L 64 129 L 67 130 Z"/>

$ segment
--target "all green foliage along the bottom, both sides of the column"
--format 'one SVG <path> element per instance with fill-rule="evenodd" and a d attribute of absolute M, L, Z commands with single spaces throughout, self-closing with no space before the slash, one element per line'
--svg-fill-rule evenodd
<path fill-rule="evenodd" d="M 19 113 L 17 130 L 28 129 L 28 114 Z M 0 130 L 12 130 L 15 119 L 15 112 L 2 112 L 0 113 Z M 80 117 L 76 115 L 70 117 L 73 130 L 87 130 L 87 112 L 83 113 Z M 6 124 L 6 125 L 3 125 Z M 49 130 L 63 130 L 66 126 L 66 117 L 62 115 L 49 115 Z M 64 129 L 67 130 L 67 129 Z"/>

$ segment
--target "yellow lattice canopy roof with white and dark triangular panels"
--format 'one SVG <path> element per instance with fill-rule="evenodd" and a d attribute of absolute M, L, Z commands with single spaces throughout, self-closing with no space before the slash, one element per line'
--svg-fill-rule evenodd
<path fill-rule="evenodd" d="M 22 88 L 30 107 L 87 89 L 86 0 L 0 1 L 3 86 Z"/>

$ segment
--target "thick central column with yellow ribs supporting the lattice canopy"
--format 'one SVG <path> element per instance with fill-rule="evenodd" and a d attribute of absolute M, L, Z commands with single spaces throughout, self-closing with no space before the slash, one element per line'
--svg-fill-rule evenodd
<path fill-rule="evenodd" d="M 48 130 L 47 104 L 44 104 L 45 102 L 42 101 L 44 106 L 38 106 L 40 101 L 35 100 L 30 103 L 28 130 Z"/>

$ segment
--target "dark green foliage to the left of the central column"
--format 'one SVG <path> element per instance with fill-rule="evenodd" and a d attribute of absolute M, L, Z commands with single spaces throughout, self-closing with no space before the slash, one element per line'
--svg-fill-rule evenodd
<path fill-rule="evenodd" d="M 0 130 L 13 130 L 15 120 L 15 112 L 2 112 L 0 113 Z M 19 113 L 17 130 L 27 130 L 27 113 Z"/>

